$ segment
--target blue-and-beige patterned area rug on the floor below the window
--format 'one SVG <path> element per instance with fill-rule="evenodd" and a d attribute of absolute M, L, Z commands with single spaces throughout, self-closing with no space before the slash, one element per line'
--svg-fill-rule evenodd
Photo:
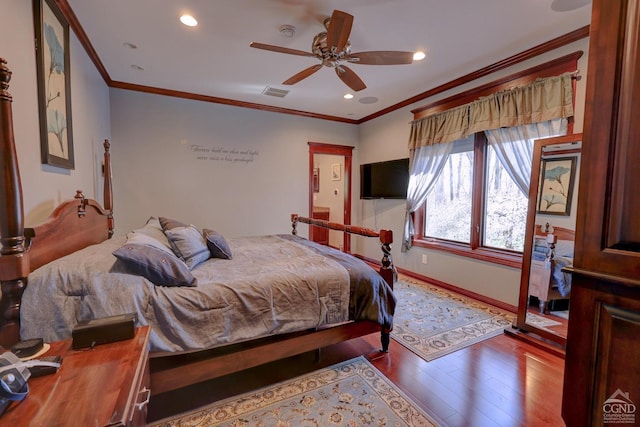
<path fill-rule="evenodd" d="M 465 296 L 402 277 L 391 337 L 429 361 L 502 334 L 515 316 Z"/>

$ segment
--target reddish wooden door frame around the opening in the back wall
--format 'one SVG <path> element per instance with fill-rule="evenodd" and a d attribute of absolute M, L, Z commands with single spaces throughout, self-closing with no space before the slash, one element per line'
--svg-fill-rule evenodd
<path fill-rule="evenodd" d="M 351 224 L 351 169 L 353 148 L 346 145 L 325 144 L 321 142 L 308 142 L 309 144 L 309 217 L 313 216 L 313 165 L 314 155 L 331 154 L 344 157 L 344 188 L 342 194 L 344 196 L 344 215 L 342 223 Z M 313 227 L 309 226 L 309 239 L 313 237 Z M 351 252 L 351 235 L 344 233 L 343 238 L 344 251 Z"/>

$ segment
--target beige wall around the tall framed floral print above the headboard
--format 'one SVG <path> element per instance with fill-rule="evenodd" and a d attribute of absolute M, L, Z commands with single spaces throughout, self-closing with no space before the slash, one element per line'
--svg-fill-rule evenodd
<path fill-rule="evenodd" d="M 101 198 L 102 141 L 110 138 L 109 91 L 74 34 L 70 40 L 71 107 L 75 170 L 40 163 L 40 135 L 31 1 L 2 0 L 0 58 L 13 76 L 13 123 L 24 194 L 25 224 L 43 221 L 77 189 Z M 10 18 L 9 18 L 10 17 Z M 100 182 L 99 182 L 100 181 Z"/>

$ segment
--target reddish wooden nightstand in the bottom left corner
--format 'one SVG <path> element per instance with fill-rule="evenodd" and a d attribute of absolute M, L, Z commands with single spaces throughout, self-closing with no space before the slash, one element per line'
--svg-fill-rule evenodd
<path fill-rule="evenodd" d="M 73 350 L 51 343 L 43 356 L 61 355 L 57 373 L 29 379 L 29 394 L 0 417 L 12 426 L 143 426 L 149 390 L 148 326 L 125 341 Z"/>

